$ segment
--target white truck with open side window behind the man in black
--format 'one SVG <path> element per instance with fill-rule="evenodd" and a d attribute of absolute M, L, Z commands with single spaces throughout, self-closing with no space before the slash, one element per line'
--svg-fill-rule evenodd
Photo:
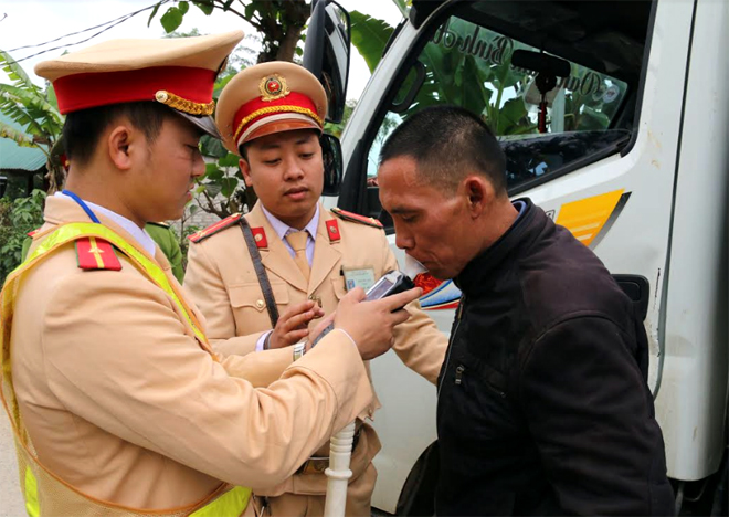
<path fill-rule="evenodd" d="M 327 11 L 325 85 L 341 104 L 346 15 Z M 342 135 L 339 194 L 325 198 L 380 218 L 394 249 L 378 201 L 382 143 L 424 106 L 482 114 L 508 157 L 510 196 L 571 230 L 642 312 L 677 509 L 701 514 L 727 498 L 728 50 L 726 0 L 413 0 Z M 458 296 L 445 282 L 422 298 L 445 333 Z M 372 374 L 383 402 L 373 505 L 393 513 L 435 439 L 435 389 L 392 352 Z"/>

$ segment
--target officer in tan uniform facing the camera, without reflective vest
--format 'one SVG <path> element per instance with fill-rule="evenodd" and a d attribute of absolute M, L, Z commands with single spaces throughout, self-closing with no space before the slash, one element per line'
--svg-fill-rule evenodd
<path fill-rule="evenodd" d="M 319 202 L 319 135 L 326 110 L 319 82 L 293 63 L 249 67 L 221 93 L 219 130 L 225 147 L 241 156 L 245 182 L 258 197 L 244 218 L 255 238 L 253 255 L 240 214 L 191 238 L 184 285 L 205 315 L 212 346 L 221 354 L 265 356 L 304 339 L 317 318 L 341 307 L 348 287 L 367 288 L 398 268 L 378 221 L 329 211 Z M 275 327 L 255 272 L 256 253 L 279 313 Z M 435 382 L 447 340 L 416 302 L 408 310 L 411 318 L 395 329 L 393 348 L 406 366 Z M 362 420 L 378 407 L 374 400 L 359 414 L 348 516 L 370 514 L 377 477 L 371 460 L 380 442 Z M 274 516 L 321 515 L 327 466 L 325 446 L 275 489 L 254 486 L 256 496 L 265 496 L 256 503 L 267 505 Z"/>

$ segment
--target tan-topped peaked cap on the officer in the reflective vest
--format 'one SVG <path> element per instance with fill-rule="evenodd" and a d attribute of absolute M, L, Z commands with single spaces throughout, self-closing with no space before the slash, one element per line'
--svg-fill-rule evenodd
<path fill-rule="evenodd" d="M 165 104 L 218 136 L 210 117 L 215 77 L 242 31 L 196 38 L 110 40 L 35 65 L 62 114 L 112 104 Z"/>

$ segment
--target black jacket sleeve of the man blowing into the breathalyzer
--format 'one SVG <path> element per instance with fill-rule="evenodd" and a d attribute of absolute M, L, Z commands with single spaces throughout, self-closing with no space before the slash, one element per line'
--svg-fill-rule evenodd
<path fill-rule="evenodd" d="M 526 421 L 567 514 L 673 514 L 663 437 L 632 341 L 609 319 L 574 318 L 525 360 Z"/>

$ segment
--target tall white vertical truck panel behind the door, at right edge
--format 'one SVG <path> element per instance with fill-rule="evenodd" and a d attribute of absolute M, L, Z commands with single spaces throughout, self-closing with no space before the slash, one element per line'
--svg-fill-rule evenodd
<path fill-rule="evenodd" d="M 685 481 L 727 447 L 728 2 L 698 2 L 693 41 L 656 400 L 668 473 Z"/>

